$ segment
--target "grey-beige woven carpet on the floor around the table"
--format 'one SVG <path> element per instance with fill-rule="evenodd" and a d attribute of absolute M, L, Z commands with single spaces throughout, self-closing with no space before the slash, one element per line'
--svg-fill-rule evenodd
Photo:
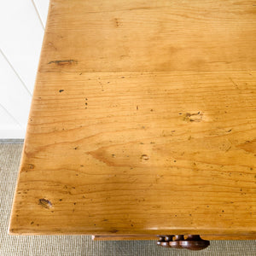
<path fill-rule="evenodd" d="M 212 241 L 199 252 L 158 247 L 155 241 L 91 241 L 90 236 L 9 236 L 8 224 L 21 143 L 0 143 L 0 255 L 224 255 L 254 256 L 256 241 Z"/>

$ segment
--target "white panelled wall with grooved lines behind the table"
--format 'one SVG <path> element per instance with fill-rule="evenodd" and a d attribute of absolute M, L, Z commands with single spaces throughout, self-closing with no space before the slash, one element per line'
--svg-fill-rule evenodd
<path fill-rule="evenodd" d="M 24 138 L 49 0 L 8 0 L 0 9 L 0 139 Z"/>

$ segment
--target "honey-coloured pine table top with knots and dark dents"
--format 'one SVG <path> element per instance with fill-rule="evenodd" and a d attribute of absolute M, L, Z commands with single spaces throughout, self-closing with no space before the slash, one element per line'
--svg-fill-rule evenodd
<path fill-rule="evenodd" d="M 11 234 L 256 236 L 255 1 L 52 0 Z"/>

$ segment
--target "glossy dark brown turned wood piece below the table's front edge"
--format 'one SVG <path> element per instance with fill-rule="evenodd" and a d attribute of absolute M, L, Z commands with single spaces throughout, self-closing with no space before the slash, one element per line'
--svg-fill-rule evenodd
<path fill-rule="evenodd" d="M 173 236 L 165 235 L 159 236 L 157 244 L 162 247 L 173 247 L 188 250 L 202 250 L 210 245 L 210 241 L 203 240 L 199 235 L 189 235 L 184 239 L 183 235 Z"/>

